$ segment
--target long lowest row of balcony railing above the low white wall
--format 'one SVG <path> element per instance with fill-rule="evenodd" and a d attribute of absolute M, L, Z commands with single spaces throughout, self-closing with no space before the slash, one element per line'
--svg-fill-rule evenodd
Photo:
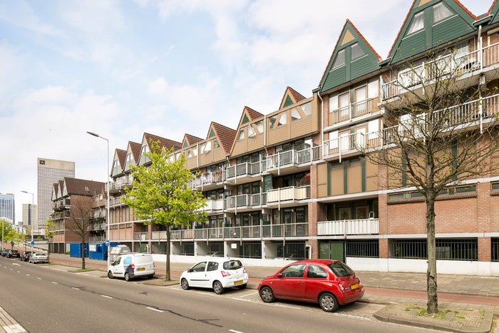
<path fill-rule="evenodd" d="M 237 227 L 207 227 L 185 230 L 171 230 L 172 240 L 230 240 L 241 238 L 264 237 L 306 237 L 309 235 L 309 224 L 284 223 L 276 225 L 245 225 Z M 148 241 L 148 232 L 135 232 L 134 240 Z M 166 240 L 165 231 L 153 231 L 151 240 Z"/>

